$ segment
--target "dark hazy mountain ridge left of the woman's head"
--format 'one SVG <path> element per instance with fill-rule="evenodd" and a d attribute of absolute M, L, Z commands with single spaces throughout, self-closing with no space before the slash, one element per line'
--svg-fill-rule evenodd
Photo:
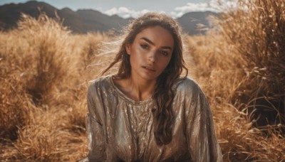
<path fill-rule="evenodd" d="M 108 16 L 99 11 L 71 9 L 56 9 L 55 7 L 39 1 L 28 1 L 25 4 L 6 4 L 0 6 L 0 24 L 7 30 L 16 27 L 16 21 L 22 13 L 37 18 L 38 8 L 45 12 L 48 17 L 55 18 L 56 13 L 63 19 L 63 26 L 68 26 L 75 33 L 87 33 L 88 31 L 108 31 L 119 29 L 130 21 L 130 18 L 120 18 L 119 16 Z"/>

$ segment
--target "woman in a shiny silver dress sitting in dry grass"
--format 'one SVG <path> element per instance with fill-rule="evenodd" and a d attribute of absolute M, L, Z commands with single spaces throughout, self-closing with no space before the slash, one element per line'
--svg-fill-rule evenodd
<path fill-rule="evenodd" d="M 130 23 L 104 71 L 120 63 L 118 73 L 88 89 L 85 161 L 222 161 L 207 99 L 187 77 L 180 33 L 162 13 Z"/>

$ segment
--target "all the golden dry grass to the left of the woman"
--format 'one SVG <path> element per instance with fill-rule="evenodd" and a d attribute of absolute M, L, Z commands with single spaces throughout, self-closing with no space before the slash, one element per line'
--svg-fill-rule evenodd
<path fill-rule="evenodd" d="M 19 28 L 1 33 L 0 159 L 83 158 L 86 80 L 94 75 L 81 53 L 89 42 L 45 14 L 23 15 Z"/>

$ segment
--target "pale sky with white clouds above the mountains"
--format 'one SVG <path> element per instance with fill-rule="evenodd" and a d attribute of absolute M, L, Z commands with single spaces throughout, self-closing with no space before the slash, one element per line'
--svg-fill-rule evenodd
<path fill-rule="evenodd" d="M 27 0 L 0 0 L 0 5 L 25 3 Z M 147 11 L 164 12 L 172 17 L 180 17 L 190 11 L 219 11 L 217 1 L 234 6 L 229 0 L 41 0 L 57 9 L 68 7 L 93 9 L 109 16 L 118 14 L 123 18 L 138 17 Z"/>

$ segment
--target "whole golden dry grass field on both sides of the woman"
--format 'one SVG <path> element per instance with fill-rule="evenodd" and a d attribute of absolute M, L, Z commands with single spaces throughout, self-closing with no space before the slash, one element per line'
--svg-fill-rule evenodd
<path fill-rule="evenodd" d="M 242 0 L 212 24 L 185 36 L 185 60 L 211 105 L 224 161 L 285 161 L 285 2 Z M 113 59 L 100 55 L 112 39 L 71 33 L 44 13 L 0 32 L 0 161 L 87 155 L 86 92 Z"/>

